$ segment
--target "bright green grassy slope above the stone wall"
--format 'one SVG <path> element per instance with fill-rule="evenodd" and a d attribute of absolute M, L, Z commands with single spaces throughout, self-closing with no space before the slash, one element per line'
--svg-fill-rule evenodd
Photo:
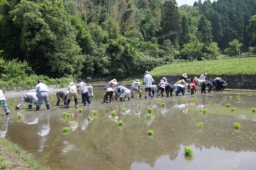
<path fill-rule="evenodd" d="M 151 75 L 198 75 L 207 74 L 256 74 L 256 58 L 239 58 L 227 60 L 212 60 L 200 62 L 186 62 L 156 67 L 150 71 Z"/>

